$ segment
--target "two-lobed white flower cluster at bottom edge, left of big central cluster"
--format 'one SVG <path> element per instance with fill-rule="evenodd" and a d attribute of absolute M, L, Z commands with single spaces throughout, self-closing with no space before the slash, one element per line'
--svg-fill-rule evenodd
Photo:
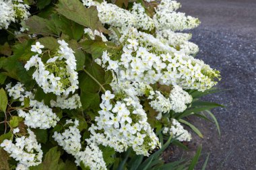
<path fill-rule="evenodd" d="M 85 167 L 89 167 L 91 170 L 106 169 L 106 164 L 102 157 L 102 151 L 94 143 L 90 143 L 86 146 L 84 151 L 81 151 L 81 134 L 78 130 L 78 120 L 66 120 L 64 125 L 68 128 L 63 133 L 55 132 L 53 138 L 58 142 L 59 146 L 63 146 L 63 149 L 75 157 L 75 163 L 77 166 L 80 162 L 84 163 Z"/>

